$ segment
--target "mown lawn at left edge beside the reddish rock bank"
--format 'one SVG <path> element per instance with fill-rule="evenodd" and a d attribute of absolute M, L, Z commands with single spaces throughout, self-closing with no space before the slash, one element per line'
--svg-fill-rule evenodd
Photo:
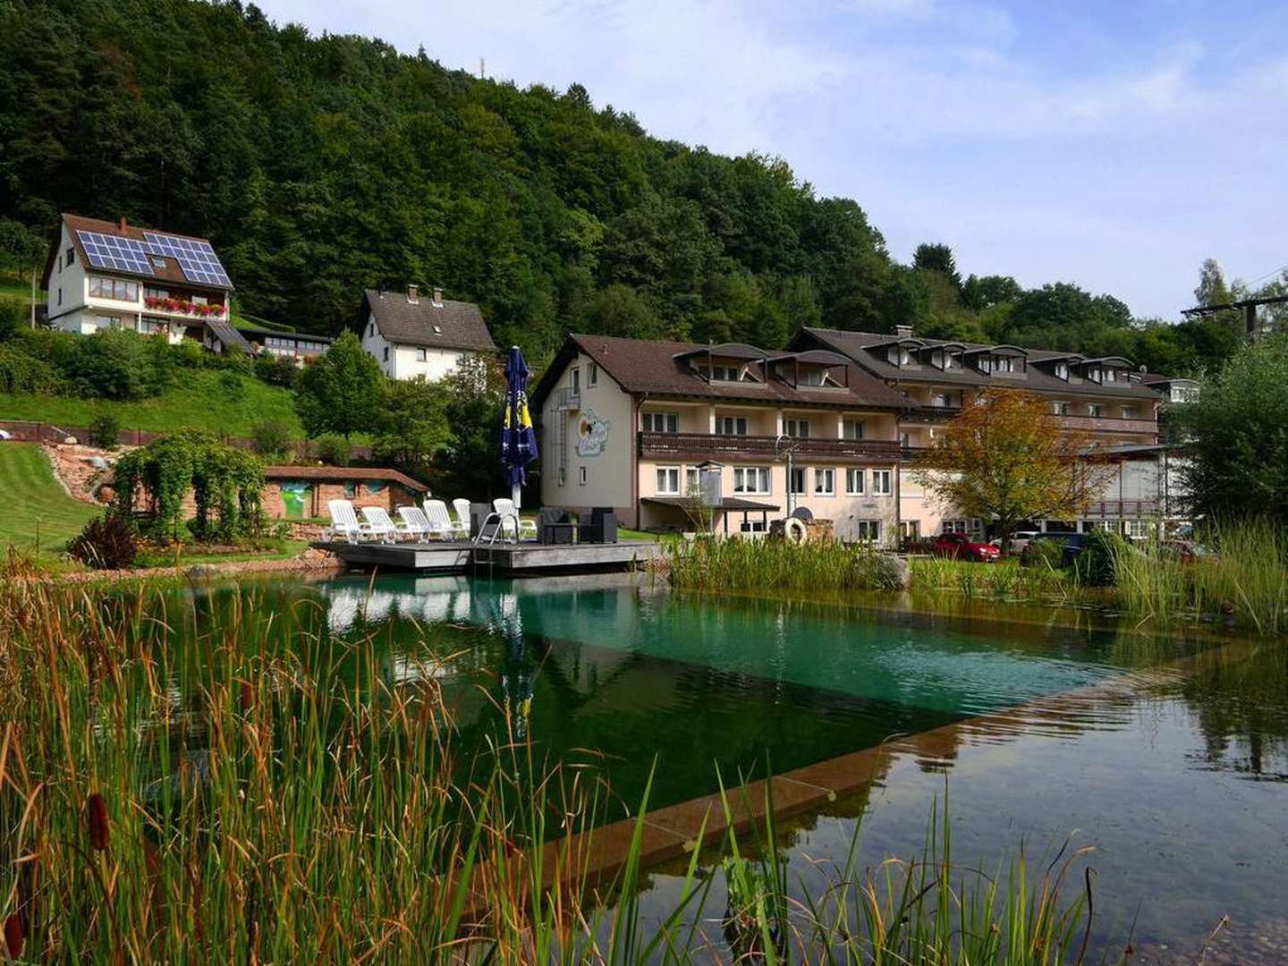
<path fill-rule="evenodd" d="M 49 460 L 35 443 L 0 443 L 0 483 L 5 510 L 0 513 L 0 550 L 62 550 L 98 509 L 67 496 L 54 479 Z"/>

